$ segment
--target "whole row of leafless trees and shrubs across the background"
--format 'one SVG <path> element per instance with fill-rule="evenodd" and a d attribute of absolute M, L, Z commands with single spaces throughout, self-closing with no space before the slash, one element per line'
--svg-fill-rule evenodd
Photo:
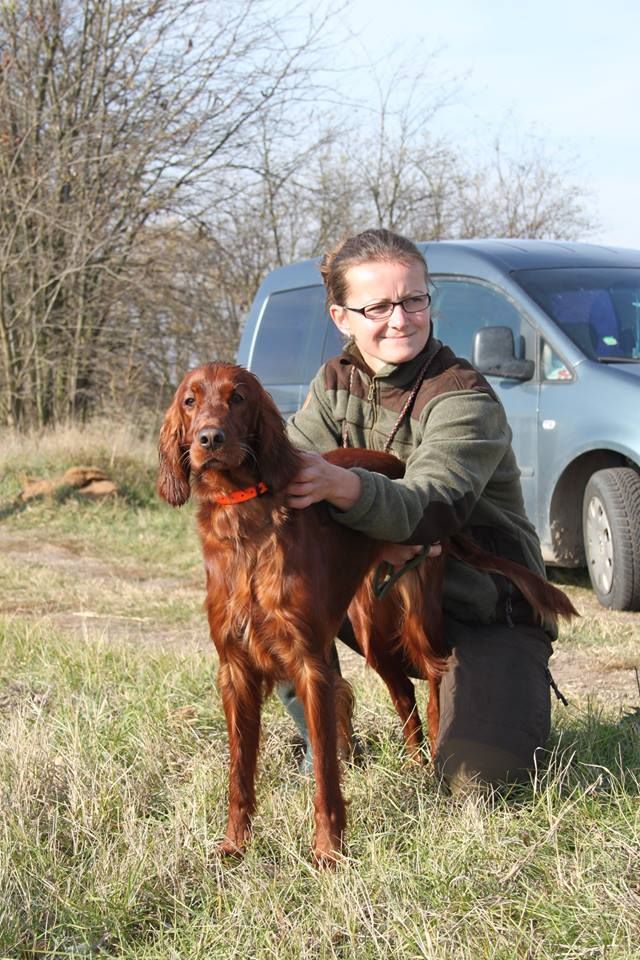
<path fill-rule="evenodd" d="M 586 230 L 583 193 L 539 143 L 471 163 L 434 136 L 453 88 L 427 71 L 374 77 L 373 106 L 329 102 L 323 9 L 0 5 L 0 422 L 162 397 L 190 363 L 233 356 L 271 268 L 372 224 Z"/>

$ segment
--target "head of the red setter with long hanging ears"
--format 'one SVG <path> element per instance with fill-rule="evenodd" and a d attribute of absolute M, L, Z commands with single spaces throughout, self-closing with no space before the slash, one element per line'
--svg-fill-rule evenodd
<path fill-rule="evenodd" d="M 258 379 L 243 367 L 208 363 L 189 370 L 160 431 L 158 493 L 173 506 L 189 499 L 190 475 L 242 471 L 278 490 L 284 422 Z M 248 481 L 247 481 L 248 482 Z"/>

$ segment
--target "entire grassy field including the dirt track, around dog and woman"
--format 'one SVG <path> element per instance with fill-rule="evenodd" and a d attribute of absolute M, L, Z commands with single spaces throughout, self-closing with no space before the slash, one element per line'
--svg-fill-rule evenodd
<path fill-rule="evenodd" d="M 585 612 L 554 658 L 571 703 L 510 801 L 454 801 L 407 768 L 381 684 L 345 657 L 364 756 L 335 872 L 311 866 L 311 785 L 268 701 L 255 839 L 221 863 L 226 732 L 190 509 L 156 501 L 152 445 L 126 431 L 0 444 L 0 957 L 640 956 L 639 615 L 567 586 Z M 81 463 L 121 495 L 16 501 L 26 476 Z"/>

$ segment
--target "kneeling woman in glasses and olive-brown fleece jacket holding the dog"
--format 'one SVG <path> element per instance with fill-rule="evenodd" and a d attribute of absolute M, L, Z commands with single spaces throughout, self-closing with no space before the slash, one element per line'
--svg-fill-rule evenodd
<path fill-rule="evenodd" d="M 288 489 L 304 509 L 326 500 L 340 523 L 391 541 L 401 567 L 458 531 L 544 576 L 526 517 L 511 430 L 487 381 L 432 336 L 418 248 L 387 230 L 341 243 L 321 264 L 329 312 L 348 342 L 316 375 L 288 433 L 308 451 Z M 348 444 L 388 450 L 400 480 L 327 463 Z M 438 771 L 454 791 L 523 779 L 550 725 L 549 635 L 504 579 L 450 560 L 444 585 L 449 668 L 440 690 Z M 357 649 L 345 624 L 342 639 Z M 304 734 L 300 704 L 279 695 Z M 307 758 L 309 759 L 309 758 Z"/>

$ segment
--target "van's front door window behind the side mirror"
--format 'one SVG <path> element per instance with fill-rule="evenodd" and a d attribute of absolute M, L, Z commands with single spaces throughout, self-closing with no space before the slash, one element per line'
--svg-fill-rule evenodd
<path fill-rule="evenodd" d="M 458 357 L 471 359 L 473 336 L 480 327 L 511 327 L 519 355 L 522 317 L 506 297 L 474 280 L 433 281 L 433 332 Z"/>

